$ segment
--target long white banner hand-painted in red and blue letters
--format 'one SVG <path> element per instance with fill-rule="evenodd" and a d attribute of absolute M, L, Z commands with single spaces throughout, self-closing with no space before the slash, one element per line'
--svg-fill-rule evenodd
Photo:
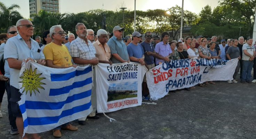
<path fill-rule="evenodd" d="M 146 73 L 150 99 L 157 100 L 169 90 L 192 87 L 206 81 L 233 80 L 238 58 L 222 59 L 180 59 L 164 62 Z"/>

